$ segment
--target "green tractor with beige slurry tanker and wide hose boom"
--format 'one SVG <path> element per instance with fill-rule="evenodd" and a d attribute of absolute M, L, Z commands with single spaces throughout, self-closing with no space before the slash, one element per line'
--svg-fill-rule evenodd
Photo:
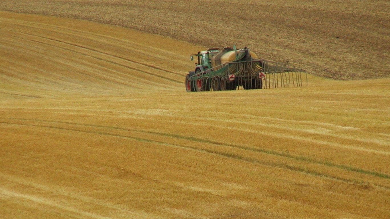
<path fill-rule="evenodd" d="M 186 75 L 187 92 L 302 86 L 302 74 L 307 85 L 305 70 L 261 60 L 247 47 L 209 48 L 190 57 L 198 62 L 195 71 Z"/>

